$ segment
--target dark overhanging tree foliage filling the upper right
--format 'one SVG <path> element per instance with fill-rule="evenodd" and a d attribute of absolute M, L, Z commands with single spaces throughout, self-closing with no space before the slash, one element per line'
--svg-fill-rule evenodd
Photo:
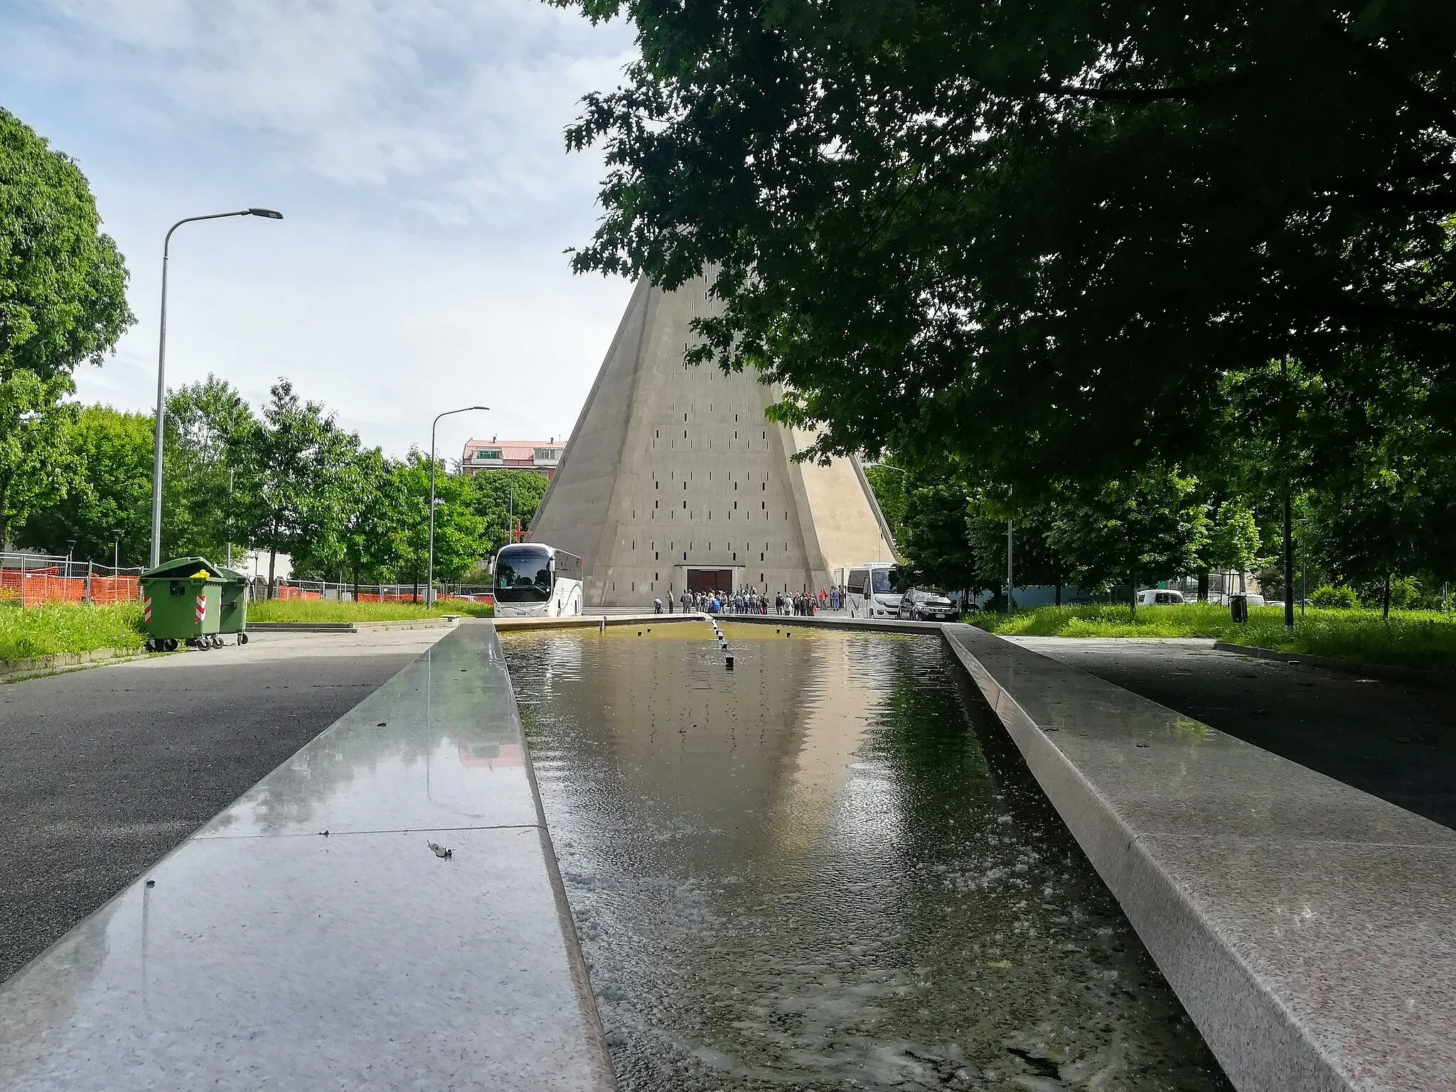
<path fill-rule="evenodd" d="M 561 1 L 642 52 L 568 132 L 610 167 L 575 266 L 712 271 L 697 357 L 821 453 L 1108 479 L 1283 358 L 1452 402 L 1449 0 Z"/>

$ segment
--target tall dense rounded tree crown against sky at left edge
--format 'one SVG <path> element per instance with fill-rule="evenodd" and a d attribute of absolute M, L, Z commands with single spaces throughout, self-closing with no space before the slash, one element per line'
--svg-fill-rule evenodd
<path fill-rule="evenodd" d="M 127 268 L 76 163 L 0 109 L 0 381 L 100 364 L 135 319 Z"/>

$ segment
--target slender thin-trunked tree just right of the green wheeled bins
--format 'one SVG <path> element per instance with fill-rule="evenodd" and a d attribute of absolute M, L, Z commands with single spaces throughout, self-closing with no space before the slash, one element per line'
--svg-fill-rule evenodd
<path fill-rule="evenodd" d="M 249 545 L 268 550 L 271 596 L 278 553 L 312 556 L 336 511 L 332 494 L 349 437 L 317 402 L 301 400 L 288 380 L 278 380 L 269 395 L 262 421 L 234 440 L 234 498 L 239 530 Z"/>

